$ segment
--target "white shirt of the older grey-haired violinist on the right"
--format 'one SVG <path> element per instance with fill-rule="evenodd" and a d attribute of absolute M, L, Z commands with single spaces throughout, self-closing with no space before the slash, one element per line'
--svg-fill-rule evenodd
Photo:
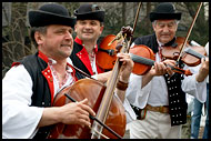
<path fill-rule="evenodd" d="M 160 57 L 155 54 L 155 61 L 160 61 Z M 197 67 L 184 66 L 184 70 L 190 69 L 193 73 L 192 75 L 185 77 L 182 81 L 182 90 L 193 97 L 195 97 L 200 102 L 204 102 L 207 99 L 205 81 L 197 82 L 195 73 L 198 73 L 201 64 Z M 124 108 L 127 112 L 127 122 L 135 120 L 135 113 L 130 107 L 135 105 L 143 109 L 145 104 L 152 107 L 158 105 L 169 105 L 168 100 L 168 89 L 162 75 L 153 77 L 152 80 L 141 89 L 142 75 L 137 75 L 131 73 L 129 80 L 129 88 L 125 91 Z"/>

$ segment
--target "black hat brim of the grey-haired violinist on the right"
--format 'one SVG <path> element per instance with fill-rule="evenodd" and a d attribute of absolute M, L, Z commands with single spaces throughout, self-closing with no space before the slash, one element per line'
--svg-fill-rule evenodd
<path fill-rule="evenodd" d="M 182 14 L 181 12 L 177 12 L 177 13 L 151 12 L 150 13 L 150 21 L 153 22 L 154 20 L 170 20 L 170 19 L 180 20 L 181 14 Z"/>

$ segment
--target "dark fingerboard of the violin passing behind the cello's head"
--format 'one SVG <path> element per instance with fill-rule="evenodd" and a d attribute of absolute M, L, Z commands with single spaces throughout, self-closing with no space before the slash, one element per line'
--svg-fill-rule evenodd
<path fill-rule="evenodd" d="M 139 57 L 139 56 L 133 54 L 133 53 L 130 53 L 130 57 L 131 57 L 132 61 L 138 62 L 138 63 L 147 64 L 147 66 L 153 66 L 154 64 L 154 60 L 151 60 L 148 58 Z"/>

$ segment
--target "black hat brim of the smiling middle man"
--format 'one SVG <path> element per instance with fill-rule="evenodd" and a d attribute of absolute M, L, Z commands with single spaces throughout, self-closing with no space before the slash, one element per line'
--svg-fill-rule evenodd
<path fill-rule="evenodd" d="M 104 20 L 104 11 L 96 11 L 96 12 L 87 12 L 87 13 L 77 13 L 74 12 L 77 20 L 99 20 L 103 22 Z"/>

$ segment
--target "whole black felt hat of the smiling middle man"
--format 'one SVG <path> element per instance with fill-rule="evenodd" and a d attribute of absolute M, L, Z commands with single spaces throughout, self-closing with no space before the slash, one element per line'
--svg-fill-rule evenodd
<path fill-rule="evenodd" d="M 82 4 L 79 9 L 74 10 L 77 20 L 99 20 L 104 21 L 104 10 L 97 4 Z"/>

